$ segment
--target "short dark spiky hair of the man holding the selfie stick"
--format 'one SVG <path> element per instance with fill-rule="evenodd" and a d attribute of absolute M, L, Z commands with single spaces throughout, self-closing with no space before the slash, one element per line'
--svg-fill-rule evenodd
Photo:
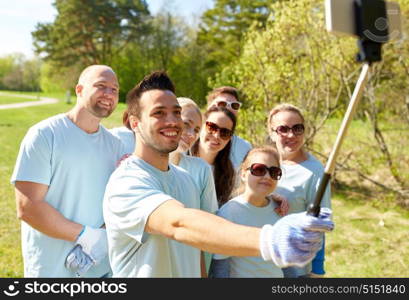
<path fill-rule="evenodd" d="M 126 95 L 127 110 L 124 112 L 123 123 L 129 129 L 129 115 L 140 117 L 139 100 L 143 93 L 151 90 L 171 91 L 176 94 L 175 85 L 165 71 L 154 71 L 146 75 L 132 90 Z"/>

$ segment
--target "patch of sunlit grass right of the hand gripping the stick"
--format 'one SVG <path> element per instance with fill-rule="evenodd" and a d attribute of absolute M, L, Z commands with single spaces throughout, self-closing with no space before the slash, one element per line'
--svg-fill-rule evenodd
<path fill-rule="evenodd" d="M 332 199 L 335 230 L 326 235 L 327 277 L 409 277 L 409 211 L 371 199 Z"/>

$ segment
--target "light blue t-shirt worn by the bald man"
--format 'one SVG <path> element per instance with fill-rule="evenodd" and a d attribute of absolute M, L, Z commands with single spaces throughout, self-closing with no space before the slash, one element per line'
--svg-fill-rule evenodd
<path fill-rule="evenodd" d="M 11 183 L 48 185 L 47 203 L 73 222 L 99 228 L 104 224 L 105 186 L 122 154 L 122 143 L 102 125 L 88 134 L 59 114 L 28 130 Z M 25 222 L 21 222 L 21 241 L 25 277 L 75 277 L 64 266 L 74 243 L 49 237 Z M 109 271 L 107 257 L 84 277 L 101 277 Z"/>

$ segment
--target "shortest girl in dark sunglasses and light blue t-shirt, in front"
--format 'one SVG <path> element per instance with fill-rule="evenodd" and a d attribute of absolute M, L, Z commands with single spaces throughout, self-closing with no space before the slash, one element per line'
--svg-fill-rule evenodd
<path fill-rule="evenodd" d="M 281 178 L 280 158 L 273 147 L 254 148 L 248 152 L 240 169 L 240 195 L 229 200 L 217 212 L 233 223 L 262 227 L 275 223 L 280 215 L 268 197 Z M 282 270 L 260 257 L 213 255 L 210 277 L 283 277 Z"/>

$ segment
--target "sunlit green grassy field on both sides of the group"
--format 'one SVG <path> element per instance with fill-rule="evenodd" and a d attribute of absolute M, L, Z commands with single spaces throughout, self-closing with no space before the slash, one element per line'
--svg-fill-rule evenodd
<path fill-rule="evenodd" d="M 0 110 L 0 277 L 23 276 L 20 222 L 9 183 L 20 142 L 30 126 L 73 106 L 64 102 L 62 94 L 44 96 L 61 101 Z M 123 110 L 120 104 L 103 124 L 119 126 Z M 409 211 L 375 198 L 351 196 L 350 188 L 336 188 L 333 193 L 335 230 L 327 235 L 327 277 L 409 277 Z"/>

